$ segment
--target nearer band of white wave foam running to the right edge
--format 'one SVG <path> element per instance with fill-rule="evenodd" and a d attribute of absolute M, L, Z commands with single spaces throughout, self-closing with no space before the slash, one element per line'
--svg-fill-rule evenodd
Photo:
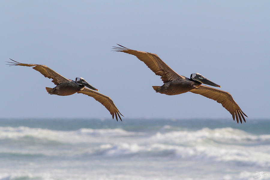
<path fill-rule="evenodd" d="M 265 148 L 265 147 L 261 147 Z M 269 148 L 268 148 L 269 150 Z M 236 145 L 220 146 L 179 146 L 161 143 L 139 145 L 136 143 L 103 144 L 98 149 L 106 156 L 173 156 L 183 160 L 208 160 L 214 162 L 235 162 L 260 167 L 270 166 L 270 155 L 256 151 L 256 148 L 243 148 Z"/>

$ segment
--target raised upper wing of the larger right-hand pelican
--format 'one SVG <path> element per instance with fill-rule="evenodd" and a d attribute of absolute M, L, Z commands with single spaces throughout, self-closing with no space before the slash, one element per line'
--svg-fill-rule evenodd
<path fill-rule="evenodd" d="M 124 46 L 114 47 L 113 49 L 115 49 L 113 51 L 116 51 L 116 52 L 124 52 L 124 53 L 132 54 L 136 56 L 138 59 L 143 61 L 153 72 L 155 72 L 156 75 L 161 76 L 161 79 L 164 83 L 171 81 L 173 79 L 179 79 L 179 78 L 185 79 L 184 76 L 177 74 L 166 63 L 164 63 L 156 54 L 138 51 L 138 50 L 132 50 Z"/>

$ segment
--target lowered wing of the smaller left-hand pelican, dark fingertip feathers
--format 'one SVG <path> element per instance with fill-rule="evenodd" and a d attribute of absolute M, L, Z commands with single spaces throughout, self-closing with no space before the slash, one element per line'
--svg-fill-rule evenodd
<path fill-rule="evenodd" d="M 111 115 L 113 115 L 113 118 L 115 115 L 116 121 L 118 121 L 118 117 L 122 121 L 121 116 L 119 115 L 121 113 L 119 112 L 119 110 L 117 109 L 116 105 L 113 103 L 113 100 L 110 97 L 105 96 L 101 93 L 98 93 L 97 91 L 93 91 L 93 90 L 85 88 L 85 87 L 77 93 L 82 93 L 82 94 L 85 94 L 87 96 L 93 97 L 98 102 L 100 102 L 102 105 L 104 105 L 105 108 L 108 109 L 108 111 L 110 111 Z M 117 117 L 117 115 L 118 115 L 118 117 Z"/>

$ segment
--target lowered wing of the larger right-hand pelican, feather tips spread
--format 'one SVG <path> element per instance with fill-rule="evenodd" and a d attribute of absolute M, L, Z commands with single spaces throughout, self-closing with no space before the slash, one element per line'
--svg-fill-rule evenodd
<path fill-rule="evenodd" d="M 237 123 L 238 123 L 238 119 L 239 119 L 240 123 L 242 124 L 241 117 L 246 122 L 244 115 L 246 117 L 247 117 L 247 115 L 241 110 L 241 108 L 238 106 L 238 104 L 232 98 L 232 95 L 230 93 L 228 93 L 226 91 L 215 89 L 213 87 L 208 87 L 205 85 L 200 85 L 196 89 L 190 90 L 190 92 L 195 93 L 195 94 L 200 94 L 200 95 L 208 97 L 210 99 L 214 99 L 218 103 L 222 104 L 222 106 L 232 114 L 233 120 L 235 120 L 235 117 L 236 117 Z"/>

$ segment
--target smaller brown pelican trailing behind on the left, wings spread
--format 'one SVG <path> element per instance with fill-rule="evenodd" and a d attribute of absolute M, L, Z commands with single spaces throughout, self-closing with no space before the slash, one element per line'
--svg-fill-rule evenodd
<path fill-rule="evenodd" d="M 10 59 L 12 60 L 12 59 Z M 33 69 L 37 70 L 40 72 L 42 75 L 44 75 L 46 78 L 52 79 L 52 82 L 56 85 L 54 88 L 46 87 L 46 90 L 49 94 L 56 94 L 58 96 L 68 96 L 74 93 L 82 93 L 87 96 L 93 97 L 95 100 L 100 102 L 102 105 L 105 106 L 105 108 L 110 111 L 111 115 L 116 117 L 116 121 L 118 121 L 118 117 L 121 119 L 121 114 L 119 110 L 117 109 L 116 105 L 113 103 L 113 100 L 105 96 L 101 93 L 98 93 L 98 89 L 90 85 L 87 81 L 85 81 L 83 78 L 78 77 L 75 79 L 75 81 L 71 79 L 67 79 L 54 70 L 50 69 L 49 67 L 41 64 L 23 64 L 19 63 L 17 61 L 12 60 L 13 62 L 7 62 L 10 64 L 10 66 L 34 66 Z M 88 88 L 90 89 L 88 89 Z M 92 89 L 92 90 L 91 90 Z M 93 91 L 96 90 L 96 91 Z M 118 115 L 118 117 L 117 117 Z M 122 115 L 122 114 L 121 114 Z M 123 115 L 122 115 L 123 116 Z"/>

